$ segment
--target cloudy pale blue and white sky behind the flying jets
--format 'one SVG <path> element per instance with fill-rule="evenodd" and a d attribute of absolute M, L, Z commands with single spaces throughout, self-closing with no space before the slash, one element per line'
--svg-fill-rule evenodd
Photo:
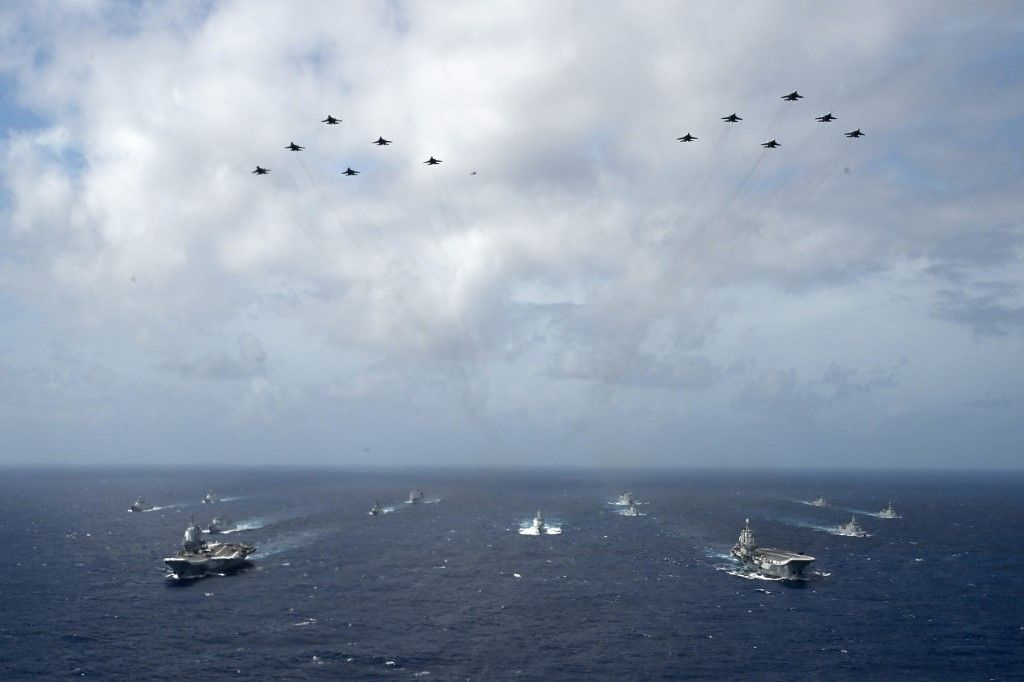
<path fill-rule="evenodd" d="M 1022 197 L 1020 3 L 4 3 L 0 464 L 1019 470 Z"/>

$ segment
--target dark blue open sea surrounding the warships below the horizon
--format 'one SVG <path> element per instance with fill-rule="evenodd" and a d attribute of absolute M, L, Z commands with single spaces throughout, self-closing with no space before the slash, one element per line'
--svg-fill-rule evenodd
<path fill-rule="evenodd" d="M 169 580 L 213 515 L 252 565 Z M 1022 522 L 1020 474 L 5 469 L 0 679 L 1022 679 Z"/>

